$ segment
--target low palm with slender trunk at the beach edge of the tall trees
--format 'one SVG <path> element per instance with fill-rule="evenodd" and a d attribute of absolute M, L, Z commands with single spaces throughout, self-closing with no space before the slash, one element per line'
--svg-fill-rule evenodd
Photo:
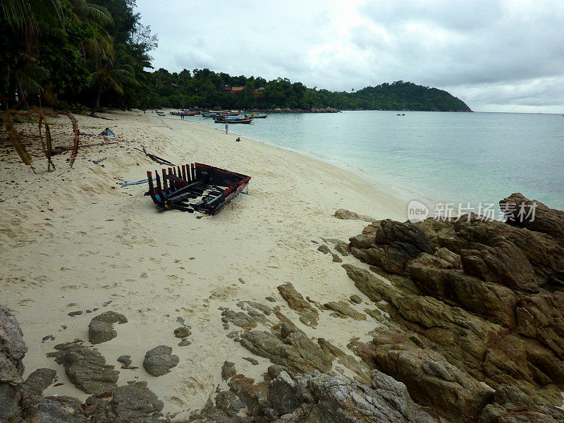
<path fill-rule="evenodd" d="M 116 59 L 102 56 L 95 62 L 96 70 L 91 75 L 92 85 L 97 86 L 96 99 L 89 116 L 95 116 L 100 107 L 102 93 L 111 90 L 123 94 L 124 85 L 139 85 L 135 80 L 133 58 L 118 50 Z"/>

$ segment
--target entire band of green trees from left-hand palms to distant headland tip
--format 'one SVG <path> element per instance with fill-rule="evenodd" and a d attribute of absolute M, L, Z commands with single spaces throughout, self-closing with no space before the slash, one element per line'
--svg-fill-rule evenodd
<path fill-rule="evenodd" d="M 412 82 L 331 92 L 209 69 L 147 71 L 157 37 L 141 24 L 135 0 L 0 0 L 0 6 L 0 69 L 6 70 L 0 102 L 18 107 L 92 115 L 102 106 L 470 111 L 448 92 Z"/>

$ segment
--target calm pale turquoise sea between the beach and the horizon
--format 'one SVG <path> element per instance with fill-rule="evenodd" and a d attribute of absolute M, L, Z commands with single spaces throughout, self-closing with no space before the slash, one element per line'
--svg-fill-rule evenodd
<path fill-rule="evenodd" d="M 400 113 L 271 114 L 229 130 L 361 173 L 406 199 L 476 207 L 522 192 L 564 209 L 564 116 Z"/>

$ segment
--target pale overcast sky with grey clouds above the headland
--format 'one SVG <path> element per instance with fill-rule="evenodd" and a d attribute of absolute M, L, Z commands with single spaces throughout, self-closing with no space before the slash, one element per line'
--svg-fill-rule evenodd
<path fill-rule="evenodd" d="M 155 68 L 358 90 L 404 80 L 474 111 L 564 112 L 564 0 L 137 0 Z"/>

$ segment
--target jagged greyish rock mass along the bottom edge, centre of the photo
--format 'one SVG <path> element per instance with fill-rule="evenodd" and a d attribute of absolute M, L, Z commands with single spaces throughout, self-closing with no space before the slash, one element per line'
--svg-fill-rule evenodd
<path fill-rule="evenodd" d="M 191 422 L 280 423 L 434 423 L 419 410 L 405 385 L 381 372 L 367 384 L 331 373 L 290 376 L 271 366 L 255 384 L 242 374 L 228 381 L 229 390 L 190 418 Z M 249 417 L 240 413 L 247 407 Z"/>

